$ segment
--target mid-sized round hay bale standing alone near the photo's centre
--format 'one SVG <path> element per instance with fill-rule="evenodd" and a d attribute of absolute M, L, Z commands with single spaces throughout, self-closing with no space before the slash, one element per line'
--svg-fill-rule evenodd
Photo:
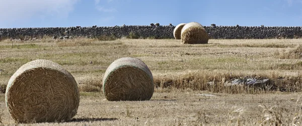
<path fill-rule="evenodd" d="M 103 93 L 109 101 L 149 100 L 154 93 L 153 75 L 140 59 L 119 58 L 105 72 Z"/>

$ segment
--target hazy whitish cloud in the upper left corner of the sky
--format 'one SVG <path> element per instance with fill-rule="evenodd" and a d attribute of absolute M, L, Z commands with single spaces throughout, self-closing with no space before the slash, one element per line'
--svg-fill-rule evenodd
<path fill-rule="evenodd" d="M 0 24 L 31 20 L 33 16 L 66 18 L 80 0 L 0 0 Z"/>

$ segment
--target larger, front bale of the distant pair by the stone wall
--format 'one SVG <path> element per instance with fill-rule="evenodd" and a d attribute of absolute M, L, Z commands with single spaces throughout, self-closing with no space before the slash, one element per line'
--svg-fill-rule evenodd
<path fill-rule="evenodd" d="M 181 30 L 182 44 L 207 44 L 209 38 L 203 26 L 197 22 L 188 23 Z"/>

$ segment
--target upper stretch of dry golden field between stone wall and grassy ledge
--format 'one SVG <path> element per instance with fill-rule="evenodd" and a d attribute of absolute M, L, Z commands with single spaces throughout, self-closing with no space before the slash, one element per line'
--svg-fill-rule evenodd
<path fill-rule="evenodd" d="M 72 42 L 85 44 L 75 46 Z M 191 87 L 194 90 L 209 89 L 206 88 L 205 83 L 213 81 L 214 78 L 215 83 L 219 84 L 222 78 L 228 81 L 236 76 L 261 76 L 281 82 L 280 84 L 288 82 L 290 85 L 300 82 L 299 71 L 302 69 L 302 64 L 299 59 L 280 58 L 280 53 L 276 53 L 276 51 L 296 50 L 299 47 L 299 39 L 210 40 L 206 45 L 182 45 L 178 42 L 179 40 L 145 39 L 41 40 L 15 43 L 15 46 L 22 48 L 11 48 L 10 42 L 2 41 L 0 69 L 4 71 L 0 73 L 0 82 L 7 84 L 18 67 L 28 61 L 41 58 L 62 65 L 74 75 L 75 79 L 88 75 L 102 77 L 112 61 L 126 56 L 142 59 L 154 73 L 157 85 L 170 80 L 178 87 L 183 84 L 180 83 L 181 80 L 186 80 L 183 75 L 189 75 L 189 71 L 193 71 L 190 75 L 194 77 L 194 81 L 189 79 L 189 83 L 195 87 L 185 88 Z M 31 45 L 36 47 L 32 48 Z M 233 77 L 229 78 L 231 73 Z M 281 77 L 285 78 L 283 80 L 290 79 L 290 81 L 278 79 Z M 89 87 L 94 88 L 92 91 L 100 90 L 99 86 L 86 86 L 82 89 L 89 91 Z M 298 85 L 296 90 L 300 90 Z M 221 91 L 217 89 L 216 92 Z"/>

